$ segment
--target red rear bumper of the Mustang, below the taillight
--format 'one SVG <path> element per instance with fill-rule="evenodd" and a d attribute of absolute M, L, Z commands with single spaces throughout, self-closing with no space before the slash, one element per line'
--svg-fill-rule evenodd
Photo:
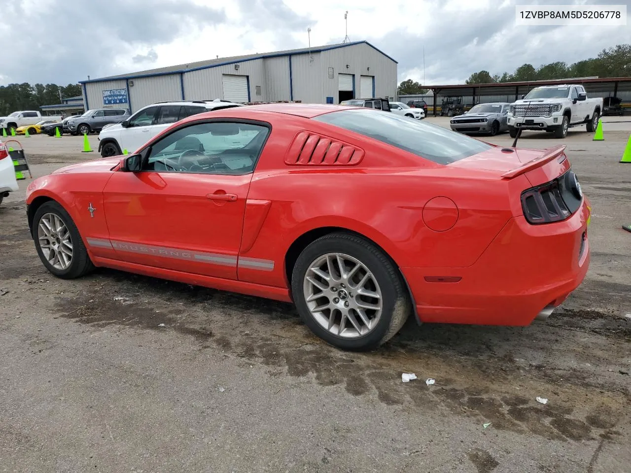
<path fill-rule="evenodd" d="M 510 219 L 475 264 L 466 268 L 403 267 L 422 322 L 529 325 L 582 283 L 589 267 L 584 201 L 563 222 Z M 435 283 L 425 277 L 461 277 Z"/>

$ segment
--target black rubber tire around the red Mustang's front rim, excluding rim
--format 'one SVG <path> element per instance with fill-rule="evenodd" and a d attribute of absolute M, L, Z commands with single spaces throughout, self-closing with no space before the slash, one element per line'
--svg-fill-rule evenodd
<path fill-rule="evenodd" d="M 44 252 L 42 252 L 42 248 L 40 247 L 40 241 L 37 236 L 38 227 L 42 217 L 49 213 L 56 214 L 56 216 L 63 221 L 64 225 L 66 225 L 66 228 L 68 228 L 70 233 L 70 240 L 73 245 L 73 257 L 70 265 L 66 269 L 57 269 L 52 266 L 52 264 L 50 264 L 44 256 Z M 64 207 L 59 205 L 57 202 L 45 202 L 37 209 L 37 212 L 35 212 L 35 216 L 33 217 L 32 237 L 33 242 L 35 242 L 35 249 L 37 250 L 40 260 L 42 260 L 44 267 L 55 276 L 61 277 L 61 279 L 75 279 L 76 277 L 88 274 L 88 272 L 94 269 L 94 265 L 88 256 L 88 251 L 83 244 L 79 230 L 77 230 L 76 225 L 74 225 L 73 219 L 70 217 L 68 212 L 66 212 Z"/>

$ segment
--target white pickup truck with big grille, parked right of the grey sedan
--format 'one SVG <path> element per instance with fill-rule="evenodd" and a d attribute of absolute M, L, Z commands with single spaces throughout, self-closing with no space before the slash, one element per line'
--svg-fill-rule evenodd
<path fill-rule="evenodd" d="M 582 85 L 537 87 L 510 104 L 510 137 L 516 137 L 520 128 L 554 132 L 557 138 L 565 138 L 570 127 L 581 125 L 593 132 L 602 110 L 603 99 L 587 98 Z"/>

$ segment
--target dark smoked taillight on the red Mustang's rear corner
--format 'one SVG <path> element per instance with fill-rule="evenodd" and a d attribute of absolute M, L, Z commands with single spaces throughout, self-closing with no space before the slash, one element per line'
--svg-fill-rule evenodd
<path fill-rule="evenodd" d="M 563 200 L 562 187 L 566 177 L 563 175 L 551 182 L 522 192 L 521 205 L 524 209 L 524 217 L 529 223 L 537 225 L 558 222 L 565 220 L 572 214 L 572 210 Z"/>

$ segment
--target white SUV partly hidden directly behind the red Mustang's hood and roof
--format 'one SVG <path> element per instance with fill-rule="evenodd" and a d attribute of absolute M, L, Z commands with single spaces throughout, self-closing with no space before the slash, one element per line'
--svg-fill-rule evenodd
<path fill-rule="evenodd" d="M 127 120 L 115 125 L 106 125 L 98 134 L 98 151 L 103 158 L 122 155 L 123 150 L 131 155 L 144 143 L 175 122 L 191 115 L 243 107 L 228 100 L 172 100 L 157 102 L 141 108 Z"/>

